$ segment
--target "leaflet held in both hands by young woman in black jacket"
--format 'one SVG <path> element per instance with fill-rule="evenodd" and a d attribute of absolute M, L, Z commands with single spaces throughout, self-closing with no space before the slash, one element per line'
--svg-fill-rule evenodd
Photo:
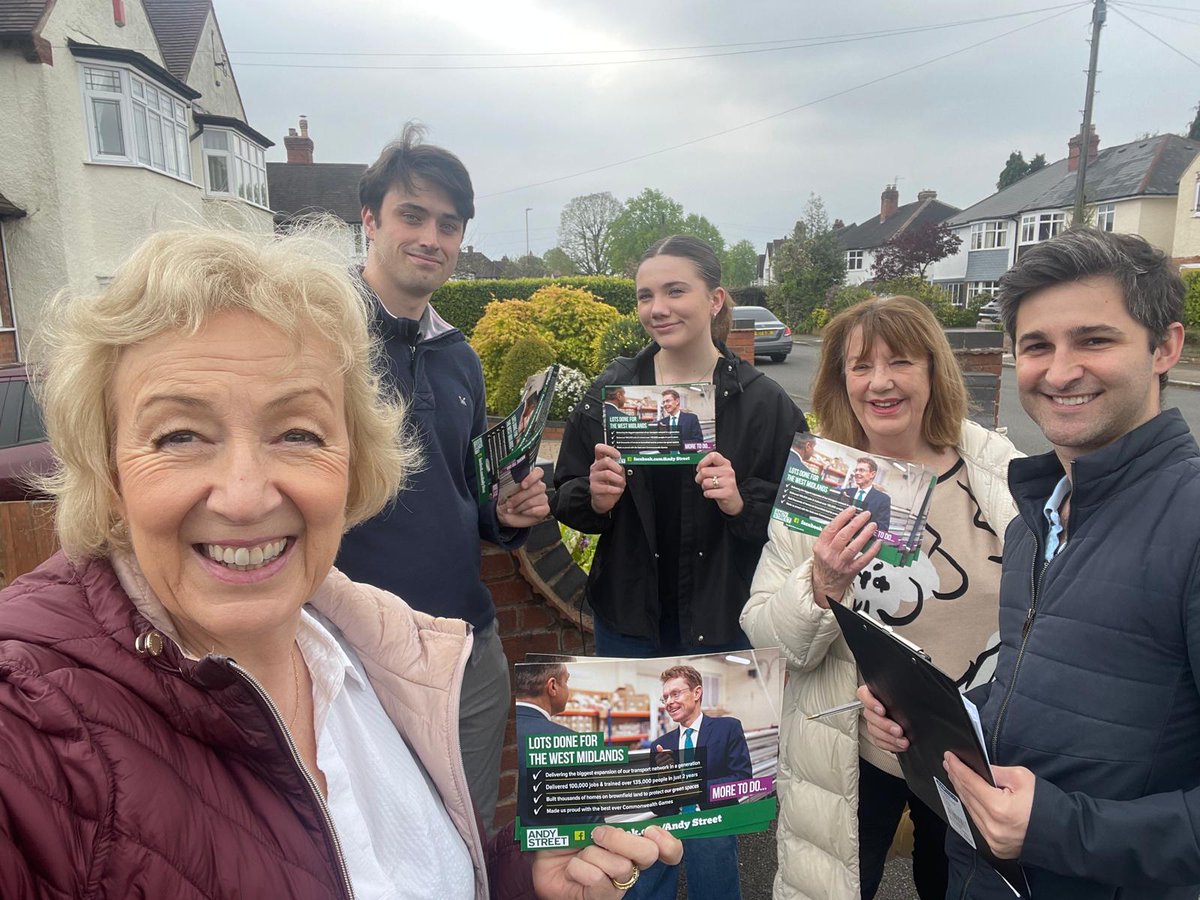
<path fill-rule="evenodd" d="M 716 449 L 716 386 L 610 384 L 604 443 L 625 466 L 695 464 Z"/>

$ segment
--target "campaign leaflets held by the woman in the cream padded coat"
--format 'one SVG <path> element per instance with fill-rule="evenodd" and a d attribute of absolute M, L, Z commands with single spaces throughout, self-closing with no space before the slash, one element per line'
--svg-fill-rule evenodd
<path fill-rule="evenodd" d="M 792 440 L 770 517 L 817 535 L 847 506 L 871 514 L 878 559 L 912 565 L 929 518 L 937 473 L 928 466 L 865 454 L 805 432 Z"/>

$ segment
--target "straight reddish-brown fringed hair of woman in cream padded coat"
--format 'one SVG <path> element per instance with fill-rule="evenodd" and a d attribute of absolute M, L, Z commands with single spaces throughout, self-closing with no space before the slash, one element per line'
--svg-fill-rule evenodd
<path fill-rule="evenodd" d="M 967 414 L 967 388 L 954 350 L 932 311 L 911 296 L 872 296 L 842 310 L 821 332 L 821 359 L 812 379 L 812 410 L 821 436 L 859 450 L 868 446 L 846 392 L 846 348 L 856 329 L 863 346 L 883 338 L 893 353 L 929 362 L 929 403 L 920 422 L 930 446 L 955 446 Z"/>

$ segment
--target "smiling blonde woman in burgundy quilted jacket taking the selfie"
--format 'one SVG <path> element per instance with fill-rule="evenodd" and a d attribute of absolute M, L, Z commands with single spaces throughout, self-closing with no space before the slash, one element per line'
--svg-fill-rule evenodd
<path fill-rule="evenodd" d="M 469 626 L 332 569 L 418 458 L 325 256 L 158 235 L 47 317 L 64 552 L 0 593 L 0 895 L 607 898 L 678 859 L 485 848 Z"/>

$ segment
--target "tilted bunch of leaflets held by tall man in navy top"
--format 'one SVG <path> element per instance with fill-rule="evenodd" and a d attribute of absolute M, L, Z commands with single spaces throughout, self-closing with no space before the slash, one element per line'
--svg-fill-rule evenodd
<path fill-rule="evenodd" d="M 480 503 L 508 498 L 536 466 L 557 380 L 557 362 L 529 376 L 517 408 L 472 439 Z"/>

